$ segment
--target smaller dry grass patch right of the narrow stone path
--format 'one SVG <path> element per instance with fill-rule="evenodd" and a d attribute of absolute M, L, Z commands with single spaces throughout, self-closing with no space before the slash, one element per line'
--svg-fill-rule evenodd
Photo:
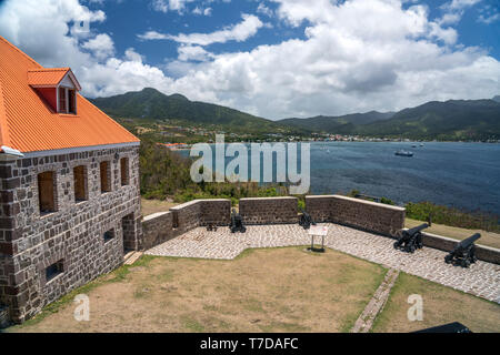
<path fill-rule="evenodd" d="M 408 321 L 408 297 L 423 301 L 423 321 Z M 401 273 L 372 331 L 406 333 L 460 322 L 474 333 L 500 333 L 500 305 L 440 284 Z"/>

